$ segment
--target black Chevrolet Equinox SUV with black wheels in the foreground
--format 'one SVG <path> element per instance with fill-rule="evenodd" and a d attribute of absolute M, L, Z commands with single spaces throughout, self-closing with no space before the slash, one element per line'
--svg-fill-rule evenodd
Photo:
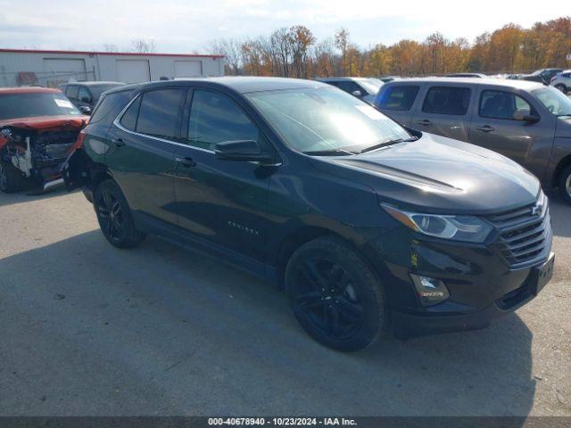
<path fill-rule="evenodd" d="M 534 176 L 323 83 L 124 86 L 78 144 L 64 179 L 84 188 L 112 245 L 161 235 L 268 278 L 337 350 L 388 331 L 484 327 L 551 276 Z"/>

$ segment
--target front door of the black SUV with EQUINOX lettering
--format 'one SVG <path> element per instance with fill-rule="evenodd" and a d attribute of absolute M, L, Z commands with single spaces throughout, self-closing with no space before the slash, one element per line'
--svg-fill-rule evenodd
<path fill-rule="evenodd" d="M 265 143 L 259 128 L 228 95 L 194 89 L 176 152 L 178 225 L 194 236 L 252 259 L 264 259 L 269 168 L 255 162 L 219 161 L 224 141 Z"/>

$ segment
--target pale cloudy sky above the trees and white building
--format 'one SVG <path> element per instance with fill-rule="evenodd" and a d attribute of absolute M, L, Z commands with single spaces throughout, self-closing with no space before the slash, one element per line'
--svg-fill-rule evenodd
<path fill-rule="evenodd" d="M 471 42 L 509 22 L 530 27 L 557 18 L 560 10 L 529 0 L 0 0 L 0 47 L 98 50 L 145 38 L 157 52 L 204 52 L 213 39 L 267 35 L 295 24 L 319 39 L 345 27 L 362 47 L 423 40 L 434 31 Z"/>

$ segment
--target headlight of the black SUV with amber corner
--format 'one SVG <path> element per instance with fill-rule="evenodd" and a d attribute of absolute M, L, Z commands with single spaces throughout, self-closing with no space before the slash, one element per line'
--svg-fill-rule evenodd
<path fill-rule="evenodd" d="M 484 243 L 492 232 L 492 225 L 473 216 L 439 216 L 398 210 L 382 203 L 383 209 L 404 226 L 424 235 L 454 241 Z"/>

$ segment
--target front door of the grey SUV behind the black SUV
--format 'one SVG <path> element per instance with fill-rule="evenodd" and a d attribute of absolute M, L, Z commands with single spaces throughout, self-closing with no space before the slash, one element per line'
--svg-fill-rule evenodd
<path fill-rule="evenodd" d="M 499 152 L 542 177 L 553 143 L 555 118 L 534 99 L 509 88 L 480 86 L 469 143 Z M 540 116 L 539 122 L 523 120 Z"/>

